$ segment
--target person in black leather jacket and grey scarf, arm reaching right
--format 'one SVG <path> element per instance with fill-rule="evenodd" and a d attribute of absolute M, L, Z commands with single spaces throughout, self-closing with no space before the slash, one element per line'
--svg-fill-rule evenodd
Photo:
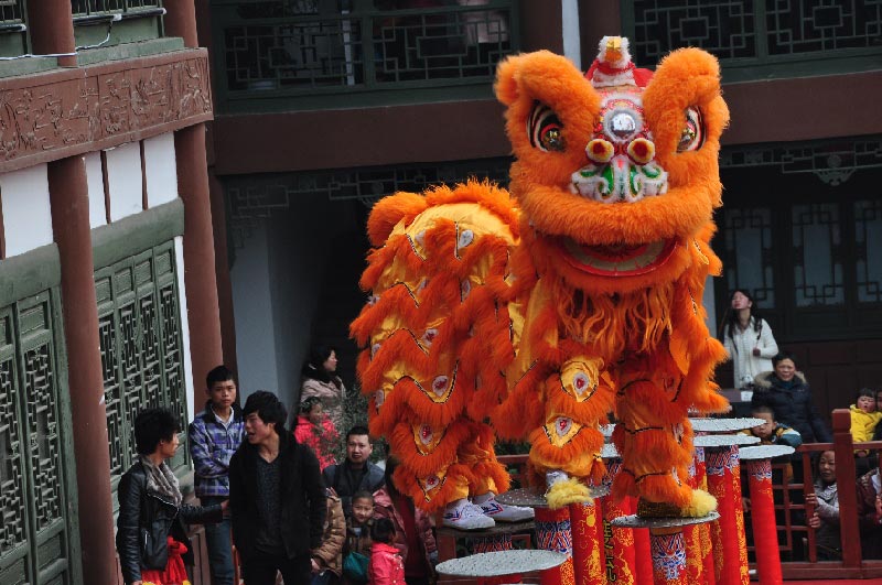
<path fill-rule="evenodd" d="M 147 409 L 135 420 L 138 461 L 119 483 L 117 552 L 127 585 L 189 585 L 193 564 L 184 523 L 218 522 L 226 502 L 182 503 L 178 478 L 165 464 L 178 449 L 178 418 L 166 409 Z"/>

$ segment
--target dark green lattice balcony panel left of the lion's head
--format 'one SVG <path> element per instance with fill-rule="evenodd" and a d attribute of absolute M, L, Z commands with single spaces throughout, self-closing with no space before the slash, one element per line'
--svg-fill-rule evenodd
<path fill-rule="evenodd" d="M 353 107 L 353 98 L 368 105 L 378 93 L 381 102 L 434 100 L 464 86 L 490 97 L 496 64 L 519 50 L 517 0 L 394 4 L 214 0 L 218 101 L 245 110 Z"/>

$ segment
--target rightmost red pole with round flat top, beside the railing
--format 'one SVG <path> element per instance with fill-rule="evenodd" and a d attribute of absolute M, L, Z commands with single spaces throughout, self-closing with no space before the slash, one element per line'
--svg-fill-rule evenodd
<path fill-rule="evenodd" d="M 760 585 L 781 585 L 783 581 L 775 500 L 772 496 L 772 457 L 789 455 L 793 452 L 793 447 L 784 445 L 761 445 L 742 449 L 741 456 L 747 462 L 751 526 Z"/>

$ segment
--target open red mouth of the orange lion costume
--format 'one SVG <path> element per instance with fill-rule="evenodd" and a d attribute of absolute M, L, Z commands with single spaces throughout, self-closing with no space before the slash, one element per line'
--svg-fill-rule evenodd
<path fill-rule="evenodd" d="M 677 241 L 589 246 L 571 238 L 558 239 L 564 260 L 572 268 L 599 277 L 636 277 L 659 268 L 674 253 Z"/>

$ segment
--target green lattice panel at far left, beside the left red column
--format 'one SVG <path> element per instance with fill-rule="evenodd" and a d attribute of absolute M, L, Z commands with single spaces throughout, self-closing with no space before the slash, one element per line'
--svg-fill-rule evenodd
<path fill-rule="evenodd" d="M 58 290 L 0 308 L 0 583 L 80 579 Z"/>

